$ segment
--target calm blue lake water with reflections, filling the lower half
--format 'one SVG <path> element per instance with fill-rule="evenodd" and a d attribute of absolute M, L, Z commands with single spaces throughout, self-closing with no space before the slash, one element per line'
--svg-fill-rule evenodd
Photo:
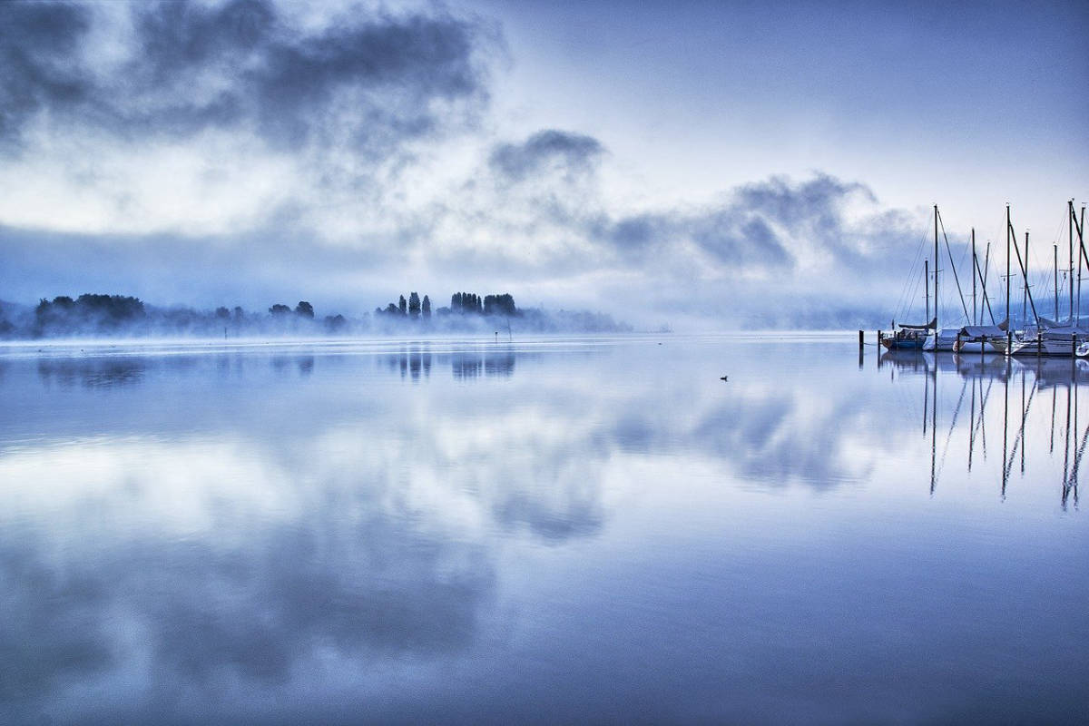
<path fill-rule="evenodd" d="M 8 346 L 0 722 L 1075 723 L 1087 384 L 849 334 Z"/>

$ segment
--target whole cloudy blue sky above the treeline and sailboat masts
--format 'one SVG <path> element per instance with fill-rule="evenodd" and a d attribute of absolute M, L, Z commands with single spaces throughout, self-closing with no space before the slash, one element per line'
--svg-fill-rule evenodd
<path fill-rule="evenodd" d="M 962 262 L 1007 202 L 1039 274 L 1065 249 L 1087 32 L 1077 2 L 4 2 L 0 299 L 885 320 L 921 310 L 934 204 Z"/>

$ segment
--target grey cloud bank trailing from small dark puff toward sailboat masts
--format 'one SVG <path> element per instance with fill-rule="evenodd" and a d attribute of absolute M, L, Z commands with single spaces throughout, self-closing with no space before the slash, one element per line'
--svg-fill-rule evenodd
<path fill-rule="evenodd" d="M 797 270 L 798 250 L 805 248 L 842 267 L 872 268 L 867 243 L 907 227 L 902 213 L 885 212 L 880 221 L 865 218 L 861 224 L 848 218 L 847 206 L 874 205 L 873 193 L 820 172 L 802 181 L 772 176 L 746 184 L 702 208 L 613 216 L 594 186 L 568 186 L 595 170 L 603 153 L 604 146 L 594 137 L 544 130 L 523 143 L 497 146 L 489 168 L 500 195 L 507 193 L 506 182 L 531 185 L 530 227 L 548 224 L 558 235 L 566 231 L 600 245 L 622 267 L 646 269 L 648 262 L 693 259 L 696 253 L 715 267 L 783 273 Z"/>

